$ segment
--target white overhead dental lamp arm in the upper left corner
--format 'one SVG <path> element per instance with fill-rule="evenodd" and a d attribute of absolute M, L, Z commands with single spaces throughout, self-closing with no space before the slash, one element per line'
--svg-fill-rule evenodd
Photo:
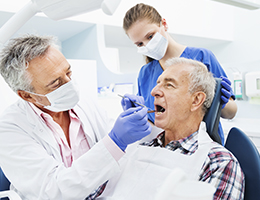
<path fill-rule="evenodd" d="M 121 0 L 31 0 L 0 29 L 0 44 L 4 44 L 18 29 L 38 12 L 60 20 L 102 8 L 112 15 Z"/>

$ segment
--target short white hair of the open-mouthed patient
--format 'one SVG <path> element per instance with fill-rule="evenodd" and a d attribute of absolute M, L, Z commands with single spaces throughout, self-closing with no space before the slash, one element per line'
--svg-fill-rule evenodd
<path fill-rule="evenodd" d="M 202 91 L 206 94 L 206 99 L 202 107 L 203 114 L 205 114 L 211 106 L 215 95 L 216 80 L 213 74 L 208 71 L 208 68 L 202 62 L 187 58 L 171 58 L 167 60 L 166 67 L 172 65 L 180 65 L 180 67 L 182 65 L 193 66 L 193 70 L 189 74 L 189 92 L 193 94 Z"/>

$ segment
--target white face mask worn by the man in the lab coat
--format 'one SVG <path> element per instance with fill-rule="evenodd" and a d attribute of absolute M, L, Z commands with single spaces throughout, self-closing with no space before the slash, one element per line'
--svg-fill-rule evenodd
<path fill-rule="evenodd" d="M 49 100 L 51 105 L 44 106 L 44 108 L 53 112 L 62 112 L 62 111 L 70 110 L 74 108 L 74 106 L 79 102 L 79 90 L 76 87 L 74 81 L 72 80 L 46 95 L 42 95 L 42 94 L 35 94 L 35 95 L 45 96 Z"/>

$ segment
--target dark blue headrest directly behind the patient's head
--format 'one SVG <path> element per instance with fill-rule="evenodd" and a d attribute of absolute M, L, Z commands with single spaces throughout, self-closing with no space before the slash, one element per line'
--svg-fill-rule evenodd
<path fill-rule="evenodd" d="M 219 119 L 221 114 L 221 78 L 215 78 L 215 96 L 210 108 L 208 109 L 203 121 L 206 123 L 206 128 L 211 139 L 219 144 L 221 143 L 220 136 L 218 134 Z"/>

